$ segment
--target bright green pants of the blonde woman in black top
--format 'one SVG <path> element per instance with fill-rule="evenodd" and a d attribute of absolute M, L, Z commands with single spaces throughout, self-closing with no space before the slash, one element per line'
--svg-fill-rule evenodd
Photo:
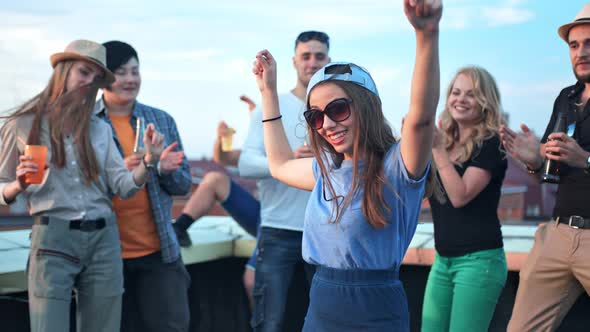
<path fill-rule="evenodd" d="M 507 273 L 502 248 L 459 257 L 437 253 L 424 293 L 422 331 L 488 331 Z"/>

